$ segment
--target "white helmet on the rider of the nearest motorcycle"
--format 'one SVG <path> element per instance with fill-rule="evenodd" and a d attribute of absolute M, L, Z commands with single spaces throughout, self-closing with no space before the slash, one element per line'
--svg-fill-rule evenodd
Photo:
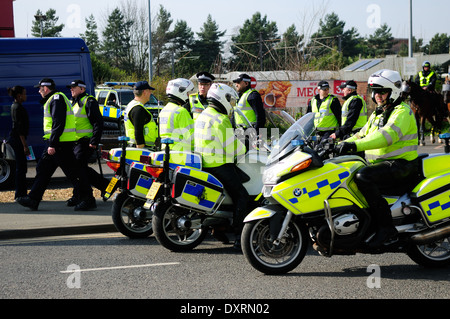
<path fill-rule="evenodd" d="M 369 88 L 372 90 L 372 100 L 375 102 L 375 93 L 388 90 L 388 104 L 397 104 L 402 99 L 402 77 L 393 70 L 380 70 L 369 77 Z"/>

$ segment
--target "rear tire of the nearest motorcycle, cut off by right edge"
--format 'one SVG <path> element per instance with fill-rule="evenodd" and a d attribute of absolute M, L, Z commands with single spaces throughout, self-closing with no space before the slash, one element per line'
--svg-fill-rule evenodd
<path fill-rule="evenodd" d="M 450 265 L 450 237 L 426 245 L 410 245 L 407 255 L 417 264 L 427 268 Z"/>

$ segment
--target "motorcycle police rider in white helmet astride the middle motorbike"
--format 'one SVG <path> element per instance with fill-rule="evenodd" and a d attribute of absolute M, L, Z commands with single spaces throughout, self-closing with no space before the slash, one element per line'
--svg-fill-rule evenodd
<path fill-rule="evenodd" d="M 240 233 L 249 199 L 242 185 L 242 175 L 234 164 L 236 156 L 245 154 L 245 145 L 235 137 L 229 119 L 238 98 L 229 86 L 214 83 L 208 92 L 209 105 L 195 121 L 194 130 L 195 151 L 202 155 L 203 170 L 217 177 L 233 199 L 236 249 L 240 249 Z"/>

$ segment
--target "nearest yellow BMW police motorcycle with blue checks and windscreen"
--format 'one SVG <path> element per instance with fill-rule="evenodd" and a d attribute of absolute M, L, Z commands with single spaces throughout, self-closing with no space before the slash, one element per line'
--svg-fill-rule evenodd
<path fill-rule="evenodd" d="M 255 269 L 287 273 L 301 263 L 310 242 L 326 257 L 400 252 L 423 266 L 450 263 L 450 154 L 420 155 L 420 182 L 402 196 L 385 197 L 398 239 L 370 248 L 376 229 L 355 183 L 358 170 L 368 164 L 355 155 L 330 158 L 333 148 L 313 150 L 313 131 L 309 113 L 269 156 L 262 191 L 269 204 L 247 215 L 241 236 Z M 445 137 L 448 145 L 450 134 Z"/>

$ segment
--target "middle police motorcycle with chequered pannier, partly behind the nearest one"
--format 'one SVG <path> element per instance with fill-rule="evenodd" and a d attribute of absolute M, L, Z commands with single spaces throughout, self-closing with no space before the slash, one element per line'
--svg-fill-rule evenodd
<path fill-rule="evenodd" d="M 209 93 L 208 93 L 209 95 Z M 245 126 L 251 127 L 245 115 Z M 235 132 L 236 134 L 236 132 Z M 238 133 L 239 134 L 239 133 Z M 256 134 L 250 133 L 251 136 Z M 170 141 L 162 141 L 168 142 Z M 248 191 L 252 207 L 260 205 L 261 169 L 267 161 L 268 149 L 263 141 L 257 140 L 263 149 L 251 149 L 237 160 L 237 167 L 243 175 L 243 186 Z M 165 160 L 169 160 L 168 153 Z M 201 161 L 200 161 L 201 163 Z M 168 167 L 168 164 L 165 165 Z M 168 175 L 165 175 L 166 178 Z M 156 184 L 155 189 L 156 189 Z M 210 228 L 225 228 L 232 231 L 233 202 L 221 182 L 201 169 L 178 167 L 170 178 L 162 181 L 159 192 L 164 196 L 154 199 L 158 190 L 150 190 L 146 205 L 153 208 L 153 230 L 158 242 L 171 251 L 189 251 L 197 247 Z"/>

